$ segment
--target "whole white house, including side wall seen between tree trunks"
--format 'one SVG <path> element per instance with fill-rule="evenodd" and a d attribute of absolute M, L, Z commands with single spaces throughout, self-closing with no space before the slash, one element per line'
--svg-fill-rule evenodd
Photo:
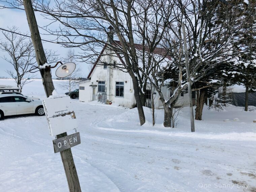
<path fill-rule="evenodd" d="M 118 42 L 118 41 L 116 41 Z M 136 49 L 142 49 L 136 44 Z M 160 48 L 158 48 L 160 49 Z M 157 54 L 157 53 L 156 53 Z M 133 108 L 136 105 L 133 91 L 133 84 L 130 75 L 121 71 L 118 66 L 122 65 L 122 58 L 111 52 L 104 46 L 101 54 L 96 60 L 92 70 L 85 81 L 77 82 L 79 85 L 79 101 L 90 102 L 100 101 L 102 103 L 118 103 L 121 106 Z M 111 64 L 111 65 L 109 65 Z M 170 97 L 170 90 L 167 86 L 162 87 L 162 92 L 167 100 Z M 148 85 L 147 106 L 151 106 L 151 89 Z M 159 100 L 159 94 L 154 91 L 155 108 L 162 108 L 163 104 Z M 188 94 L 181 94 L 175 106 L 189 105 Z"/>

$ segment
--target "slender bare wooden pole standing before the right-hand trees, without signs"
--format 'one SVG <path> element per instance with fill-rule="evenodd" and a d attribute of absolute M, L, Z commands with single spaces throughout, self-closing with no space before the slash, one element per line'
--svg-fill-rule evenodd
<path fill-rule="evenodd" d="M 190 72 L 189 72 L 189 62 L 188 62 L 188 50 L 187 50 L 185 24 L 182 23 L 181 25 L 182 25 L 182 32 L 183 32 L 184 51 L 185 51 L 185 60 L 186 60 L 186 72 L 187 72 L 187 79 L 188 79 L 188 95 L 189 95 L 189 107 L 190 107 L 191 132 L 195 132 L 194 111 L 193 111 L 193 104 L 192 104 L 191 79 L 190 79 Z"/>

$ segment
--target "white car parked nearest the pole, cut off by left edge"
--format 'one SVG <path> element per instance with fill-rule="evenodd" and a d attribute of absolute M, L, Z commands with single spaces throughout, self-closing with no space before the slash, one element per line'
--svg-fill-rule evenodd
<path fill-rule="evenodd" d="M 38 116 L 44 115 L 42 101 L 31 100 L 23 95 L 0 95 L 0 120 L 4 116 L 34 113 Z"/>

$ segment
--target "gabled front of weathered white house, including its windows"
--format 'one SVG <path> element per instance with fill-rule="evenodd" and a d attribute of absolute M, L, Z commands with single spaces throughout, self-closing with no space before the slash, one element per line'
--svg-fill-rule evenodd
<path fill-rule="evenodd" d="M 132 79 L 128 73 L 115 67 L 115 64 L 122 64 L 118 56 L 107 55 L 107 51 L 109 50 L 104 47 L 88 79 L 77 82 L 79 101 L 90 102 L 98 100 L 98 96 L 101 96 L 105 103 L 112 102 L 126 107 L 135 107 Z M 113 65 L 107 66 L 107 63 Z"/>

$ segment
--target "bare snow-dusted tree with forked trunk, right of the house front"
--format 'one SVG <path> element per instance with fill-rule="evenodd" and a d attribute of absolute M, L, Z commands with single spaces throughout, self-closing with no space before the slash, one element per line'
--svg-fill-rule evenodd
<path fill-rule="evenodd" d="M 218 64 L 234 57 L 234 53 L 230 51 L 232 49 L 230 40 L 237 30 L 237 26 L 230 24 L 231 20 L 236 20 L 236 9 L 229 4 L 220 1 L 194 0 L 177 0 L 172 3 L 171 22 L 167 26 L 169 30 L 165 30 L 162 42 L 159 43 L 166 47 L 168 54 L 165 58 L 163 55 L 159 57 L 151 54 L 153 70 L 148 76 L 163 103 L 165 127 L 171 126 L 171 108 L 180 93 L 187 89 L 181 23 L 186 24 L 190 59 L 189 76 L 192 83 L 200 81 Z M 222 21 L 218 16 L 220 13 L 225 15 Z M 147 38 L 147 41 L 151 42 L 151 38 Z M 143 70 L 141 72 L 143 73 Z M 167 82 L 173 88 L 170 97 L 162 93 L 162 87 Z"/>

